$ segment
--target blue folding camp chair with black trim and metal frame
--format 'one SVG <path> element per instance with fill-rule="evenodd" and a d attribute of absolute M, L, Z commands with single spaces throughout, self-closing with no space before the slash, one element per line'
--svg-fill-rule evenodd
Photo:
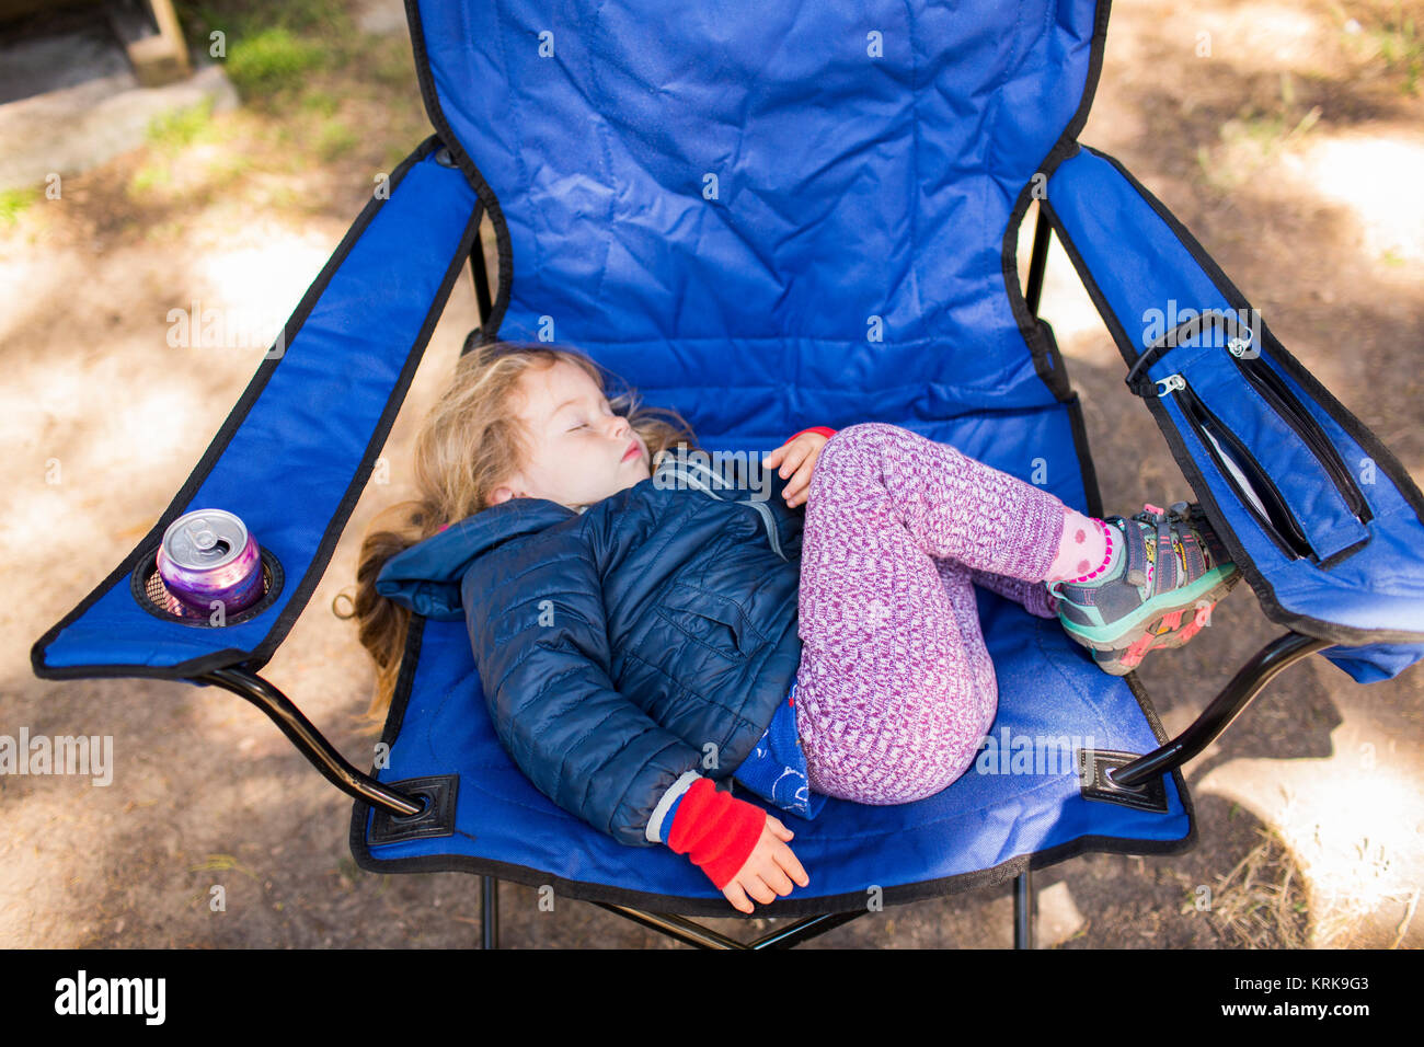
<path fill-rule="evenodd" d="M 481 326 L 466 349 L 585 349 L 709 450 L 893 422 L 1101 516 L 1081 403 L 1037 318 L 1049 231 L 1286 632 L 1168 739 L 1134 674 L 1105 674 L 1058 623 L 980 591 L 991 736 L 1081 744 L 916 803 L 779 812 L 812 883 L 758 907 L 799 919 L 750 947 L 1010 877 L 1030 946 L 1032 869 L 1195 842 L 1179 768 L 1277 672 L 1321 651 L 1373 682 L 1424 654 L 1418 487 L 1182 224 L 1077 141 L 1108 0 L 407 0 L 407 14 L 436 134 L 366 205 L 154 528 L 36 642 L 40 677 L 182 679 L 255 702 L 356 798 L 363 869 L 483 877 L 487 946 L 500 879 L 742 946 L 685 919 L 736 915 L 686 858 L 614 842 L 515 768 L 461 620 L 413 620 L 389 764 L 370 773 L 258 674 L 326 570 L 467 258 Z M 155 577 L 164 530 L 201 507 L 236 513 L 265 550 L 266 595 L 221 627 L 167 614 Z"/>

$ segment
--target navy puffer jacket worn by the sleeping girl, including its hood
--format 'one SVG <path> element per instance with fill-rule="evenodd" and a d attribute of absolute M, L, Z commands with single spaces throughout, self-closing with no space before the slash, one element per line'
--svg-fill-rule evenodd
<path fill-rule="evenodd" d="M 622 843 L 652 846 L 654 808 L 684 773 L 729 778 L 800 665 L 805 507 L 760 456 L 665 454 L 584 513 L 513 499 L 376 581 L 427 618 L 466 618 L 510 756 Z"/>

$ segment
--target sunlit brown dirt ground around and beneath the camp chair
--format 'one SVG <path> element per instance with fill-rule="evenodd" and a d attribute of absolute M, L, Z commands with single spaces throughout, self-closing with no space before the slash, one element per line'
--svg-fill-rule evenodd
<path fill-rule="evenodd" d="M 0 734 L 111 735 L 115 764 L 110 786 L 0 776 L 0 946 L 477 943 L 478 879 L 357 870 L 349 799 L 245 702 L 185 684 L 40 681 L 30 670 L 30 645 L 151 527 L 261 358 L 172 349 L 168 312 L 199 301 L 285 321 L 373 174 L 429 132 L 409 40 L 377 17 L 390 4 L 345 7 L 356 21 L 343 31 L 372 30 L 369 61 L 329 66 L 296 95 L 249 97 L 197 132 L 66 178 L 61 201 L 0 219 L 0 484 L 10 491 L 0 516 Z M 1216 1 L 1183 11 L 1169 0 L 1118 0 L 1081 135 L 1186 224 L 1417 480 L 1421 26 L 1420 3 Z M 1025 255 L 1030 235 L 1025 224 Z M 493 265 L 493 242 L 487 251 Z M 1190 499 L 1057 244 L 1042 312 L 1084 397 L 1106 511 Z M 392 483 L 367 489 L 263 674 L 360 766 L 375 741 L 359 722 L 372 674 L 332 598 L 352 584 L 366 521 L 406 494 L 414 427 L 476 323 L 464 279 L 387 443 Z M 1186 726 L 1282 631 L 1240 585 L 1190 645 L 1149 657 L 1139 678 L 1166 729 Z M 1414 668 L 1358 685 L 1323 658 L 1287 670 L 1188 765 L 1199 845 L 1037 873 L 1040 944 L 1424 943 L 1421 681 Z M 209 907 L 215 885 L 225 912 Z M 1195 905 L 1203 886 L 1210 910 Z M 558 900 L 544 912 L 537 900 L 530 887 L 501 886 L 503 944 L 681 947 L 591 905 Z M 893 906 L 807 947 L 1004 947 L 1011 912 L 1004 886 Z M 711 922 L 736 936 L 773 924 Z"/>

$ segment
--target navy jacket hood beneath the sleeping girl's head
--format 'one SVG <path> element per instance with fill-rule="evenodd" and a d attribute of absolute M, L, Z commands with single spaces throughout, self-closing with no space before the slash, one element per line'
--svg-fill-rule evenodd
<path fill-rule="evenodd" d="M 376 575 L 376 591 L 424 618 L 463 618 L 460 583 L 476 558 L 574 516 L 572 509 L 547 499 L 510 499 L 393 556 Z"/>

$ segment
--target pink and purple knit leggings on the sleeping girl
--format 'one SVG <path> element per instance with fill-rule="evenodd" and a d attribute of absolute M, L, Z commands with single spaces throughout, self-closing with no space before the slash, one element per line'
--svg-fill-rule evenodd
<path fill-rule="evenodd" d="M 796 725 L 810 788 L 933 796 L 998 709 L 970 570 L 1042 581 L 1064 503 L 954 447 L 847 426 L 812 476 L 802 537 Z"/>

